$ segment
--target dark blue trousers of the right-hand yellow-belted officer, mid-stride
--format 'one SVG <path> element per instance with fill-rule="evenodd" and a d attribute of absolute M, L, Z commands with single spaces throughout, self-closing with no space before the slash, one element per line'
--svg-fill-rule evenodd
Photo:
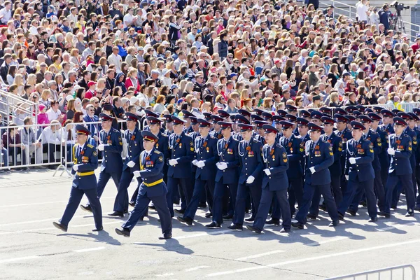
<path fill-rule="evenodd" d="M 125 222 L 122 227 L 127 228 L 128 230 L 132 230 L 141 215 L 146 211 L 149 202 L 153 202 L 153 205 L 156 207 L 156 211 L 158 211 L 158 215 L 160 218 L 160 226 L 162 228 L 162 233 L 164 235 L 169 235 L 172 233 L 172 218 L 171 214 L 169 213 L 169 209 L 167 206 L 166 195 L 160 195 L 158 197 L 148 197 L 146 195 L 137 195 L 136 206 L 134 207 L 133 211 L 130 213 L 127 222 Z"/>

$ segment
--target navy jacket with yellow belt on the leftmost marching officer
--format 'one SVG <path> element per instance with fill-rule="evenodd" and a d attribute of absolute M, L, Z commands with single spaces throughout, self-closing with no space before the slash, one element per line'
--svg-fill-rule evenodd
<path fill-rule="evenodd" d="M 87 144 L 83 146 L 83 150 L 77 153 L 79 144 L 73 146 L 73 163 L 79 165 L 78 171 L 71 169 L 71 174 L 76 174 L 73 179 L 73 188 L 80 190 L 89 190 L 97 188 L 97 179 L 94 173 L 86 175 L 84 173 L 94 172 L 98 168 L 98 154 L 93 145 Z"/>

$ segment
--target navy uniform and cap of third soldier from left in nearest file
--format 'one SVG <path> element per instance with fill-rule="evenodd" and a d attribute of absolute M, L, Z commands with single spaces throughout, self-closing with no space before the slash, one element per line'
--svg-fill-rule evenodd
<path fill-rule="evenodd" d="M 365 126 L 356 121 L 351 122 L 353 130 L 365 130 Z M 353 160 L 353 162 L 351 162 Z M 373 182 L 375 172 L 372 167 L 374 160 L 374 145 L 366 137 L 360 137 L 358 141 L 351 139 L 346 146 L 346 175 L 349 176 L 343 201 L 338 206 L 340 218 L 344 217 L 351 202 L 359 202 L 366 195 L 367 212 L 370 221 L 377 221 L 377 201 L 374 196 Z M 356 197 L 357 196 L 357 197 Z M 358 203 L 357 203 L 358 205 Z M 357 211 L 353 209 L 353 211 Z"/>

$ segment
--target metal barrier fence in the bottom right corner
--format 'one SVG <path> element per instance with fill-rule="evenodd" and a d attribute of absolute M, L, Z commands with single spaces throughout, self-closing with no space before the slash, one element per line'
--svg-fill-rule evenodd
<path fill-rule="evenodd" d="M 406 272 L 408 270 L 408 273 Z M 371 277 L 370 277 L 371 276 Z M 386 267 L 383 269 L 375 269 L 368 272 L 360 272 L 356 274 L 349 274 L 328 278 L 326 280 L 346 280 L 346 279 L 398 279 L 398 280 L 415 280 L 416 269 L 412 265 L 398 265 L 395 267 Z"/>

